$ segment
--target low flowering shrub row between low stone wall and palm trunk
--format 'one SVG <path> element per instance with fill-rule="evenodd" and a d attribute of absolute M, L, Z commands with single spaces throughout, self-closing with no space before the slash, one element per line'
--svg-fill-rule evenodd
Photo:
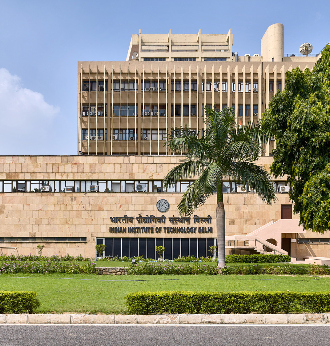
<path fill-rule="evenodd" d="M 196 275 L 196 274 L 217 274 L 215 266 L 209 266 L 205 263 L 193 264 L 174 264 L 167 262 L 161 265 L 155 262 L 131 263 L 128 265 L 127 274 L 129 275 Z"/>

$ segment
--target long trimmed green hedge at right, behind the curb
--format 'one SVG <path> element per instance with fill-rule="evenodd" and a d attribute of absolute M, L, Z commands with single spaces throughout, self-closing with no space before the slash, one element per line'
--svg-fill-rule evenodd
<path fill-rule="evenodd" d="M 330 292 L 134 292 L 125 300 L 131 315 L 330 312 Z"/>

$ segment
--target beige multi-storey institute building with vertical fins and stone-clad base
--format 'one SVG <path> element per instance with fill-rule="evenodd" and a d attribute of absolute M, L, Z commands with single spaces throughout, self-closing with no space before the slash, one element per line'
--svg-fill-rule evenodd
<path fill-rule="evenodd" d="M 231 30 L 139 32 L 126 61 L 78 62 L 78 155 L 0 156 L 1 253 L 36 254 L 44 244 L 45 255 L 94 257 L 95 245 L 105 244 L 106 256 L 155 258 L 158 245 L 169 259 L 210 255 L 216 199 L 179 217 L 191 181 L 164 189 L 164 177 L 182 160 L 164 146 L 167 135 L 188 126 L 202 136 L 204 106 L 232 107 L 238 126 L 258 121 L 283 90 L 286 72 L 312 69 L 317 60 L 284 56 L 281 24 L 267 29 L 261 55 L 239 56 L 232 44 Z M 273 148 L 266 143 L 258 162 L 266 170 Z M 298 226 L 286 182 L 274 180 L 274 189 L 278 200 L 268 206 L 249 186 L 223 181 L 227 253 L 329 256 L 329 236 Z"/>

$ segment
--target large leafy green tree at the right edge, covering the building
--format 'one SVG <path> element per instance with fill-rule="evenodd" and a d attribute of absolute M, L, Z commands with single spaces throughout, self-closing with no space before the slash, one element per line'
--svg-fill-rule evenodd
<path fill-rule="evenodd" d="M 330 46 L 312 71 L 286 74 L 283 92 L 269 103 L 262 124 L 277 129 L 270 171 L 292 186 L 294 213 L 304 229 L 330 229 Z"/>

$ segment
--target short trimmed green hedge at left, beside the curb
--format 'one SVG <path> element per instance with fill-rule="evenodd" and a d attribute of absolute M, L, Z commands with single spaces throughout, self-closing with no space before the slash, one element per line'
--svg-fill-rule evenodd
<path fill-rule="evenodd" d="M 33 291 L 0 291 L 0 313 L 33 313 L 40 306 Z"/>

